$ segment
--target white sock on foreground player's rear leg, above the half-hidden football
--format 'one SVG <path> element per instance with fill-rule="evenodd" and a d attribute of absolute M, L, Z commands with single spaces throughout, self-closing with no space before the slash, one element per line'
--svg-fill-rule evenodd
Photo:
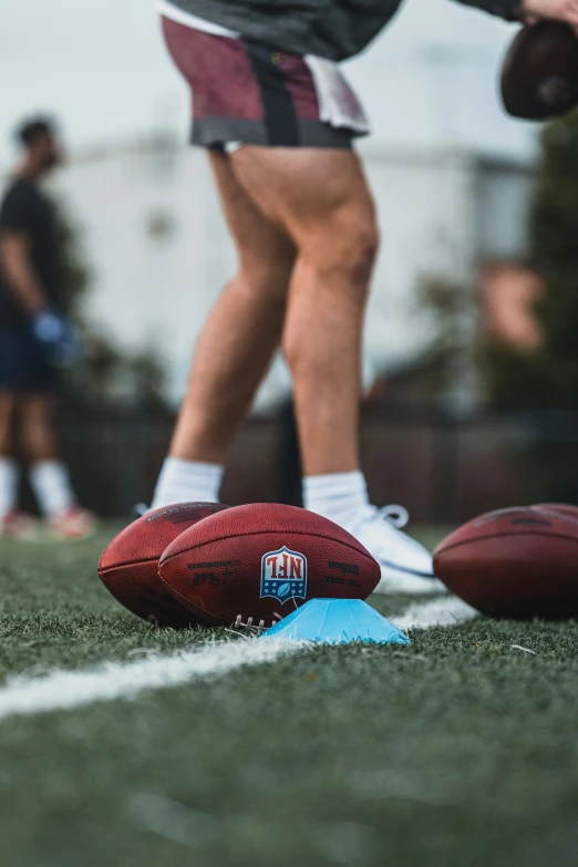
<path fill-rule="evenodd" d="M 223 478 L 220 464 L 167 457 L 161 469 L 151 508 L 175 503 L 218 503 Z"/>

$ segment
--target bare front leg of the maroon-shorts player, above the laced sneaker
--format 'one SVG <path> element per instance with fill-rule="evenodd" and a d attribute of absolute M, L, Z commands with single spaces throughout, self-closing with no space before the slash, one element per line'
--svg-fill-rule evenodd
<path fill-rule="evenodd" d="M 350 151 L 244 147 L 237 176 L 299 255 L 283 349 L 305 474 L 359 467 L 361 339 L 378 248 L 371 195 Z"/>

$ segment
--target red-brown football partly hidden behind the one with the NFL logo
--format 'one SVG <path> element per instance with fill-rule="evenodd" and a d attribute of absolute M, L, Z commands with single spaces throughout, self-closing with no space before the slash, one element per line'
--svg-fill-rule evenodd
<path fill-rule="evenodd" d="M 102 582 L 121 605 L 143 620 L 178 629 L 198 623 L 198 618 L 163 586 L 158 559 L 183 530 L 225 508 L 218 503 L 179 503 L 133 522 L 101 555 Z"/>

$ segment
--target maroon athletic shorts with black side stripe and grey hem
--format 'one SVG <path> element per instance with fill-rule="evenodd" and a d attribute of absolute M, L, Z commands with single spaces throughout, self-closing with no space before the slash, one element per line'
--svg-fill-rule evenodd
<path fill-rule="evenodd" d="M 166 44 L 193 94 L 193 144 L 230 151 L 349 148 L 369 132 L 363 109 L 336 63 L 163 18 Z"/>

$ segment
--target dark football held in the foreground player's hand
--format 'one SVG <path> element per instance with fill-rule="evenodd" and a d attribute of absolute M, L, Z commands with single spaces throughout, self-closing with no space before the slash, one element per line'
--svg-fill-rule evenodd
<path fill-rule="evenodd" d="M 506 55 L 502 99 L 508 114 L 544 121 L 578 105 L 578 38 L 561 21 L 522 28 Z"/>

